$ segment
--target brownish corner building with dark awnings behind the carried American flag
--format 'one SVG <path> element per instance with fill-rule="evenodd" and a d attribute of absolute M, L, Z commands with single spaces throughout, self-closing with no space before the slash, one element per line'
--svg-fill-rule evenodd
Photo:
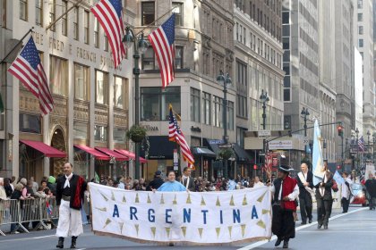
<path fill-rule="evenodd" d="M 142 29 L 145 36 L 166 21 L 175 7 L 174 81 L 165 89 L 161 87 L 158 63 L 151 46 L 141 56 L 140 117 L 141 124 L 149 128 L 150 140 L 149 150 L 141 154 L 148 154 L 150 159 L 148 178 L 154 171 L 166 173 L 174 169 L 176 146 L 168 142 L 169 104 L 180 117 L 184 137 L 192 146 L 196 167 L 193 175 L 223 176 L 222 161 L 217 158 L 218 145 L 223 143 L 224 135 L 224 92 L 217 77 L 224 71 L 233 79 L 233 85 L 228 87 L 226 115 L 228 141 L 235 144 L 234 1 L 129 2 L 136 11 L 135 29 Z M 153 23 L 155 20 L 157 23 Z M 228 173 L 235 173 L 236 164 L 236 161 L 229 162 Z M 181 160 L 175 170 L 185 165 Z"/>

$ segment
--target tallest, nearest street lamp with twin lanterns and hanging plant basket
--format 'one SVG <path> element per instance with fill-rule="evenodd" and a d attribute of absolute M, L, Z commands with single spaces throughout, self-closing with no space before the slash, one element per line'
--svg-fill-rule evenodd
<path fill-rule="evenodd" d="M 136 44 L 136 40 L 138 40 Z M 140 79 L 140 68 L 139 59 L 140 54 L 144 54 L 148 49 L 148 42 L 143 38 L 143 33 L 141 37 L 134 37 L 134 33 L 130 27 L 125 29 L 125 35 L 123 37 L 123 43 L 127 49 L 131 48 L 133 45 L 133 59 L 134 59 L 134 125 L 138 126 L 140 124 L 140 89 L 139 89 L 139 79 Z M 140 177 L 140 143 L 134 143 L 134 179 L 139 179 Z"/>

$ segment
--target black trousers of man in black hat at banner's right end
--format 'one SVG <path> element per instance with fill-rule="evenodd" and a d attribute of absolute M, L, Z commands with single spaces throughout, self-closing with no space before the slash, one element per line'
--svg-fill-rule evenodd
<path fill-rule="evenodd" d="M 295 221 L 292 210 L 281 209 L 279 205 L 273 205 L 273 219 L 271 231 L 278 238 L 288 241 L 295 237 Z"/>

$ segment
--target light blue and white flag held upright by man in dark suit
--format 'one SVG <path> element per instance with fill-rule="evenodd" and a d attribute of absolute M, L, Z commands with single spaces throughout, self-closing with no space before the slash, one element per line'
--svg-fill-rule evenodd
<path fill-rule="evenodd" d="M 321 131 L 319 127 L 319 121 L 314 121 L 313 132 L 313 152 L 312 152 L 312 172 L 313 172 L 313 185 L 317 185 L 324 177 L 324 160 L 322 158 L 321 148 Z"/>

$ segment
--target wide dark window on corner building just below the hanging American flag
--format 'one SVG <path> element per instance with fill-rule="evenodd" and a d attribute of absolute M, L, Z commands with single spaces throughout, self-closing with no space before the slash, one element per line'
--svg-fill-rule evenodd
<path fill-rule="evenodd" d="M 180 114 L 180 87 L 141 87 L 141 121 L 166 121 L 168 105 Z"/>

